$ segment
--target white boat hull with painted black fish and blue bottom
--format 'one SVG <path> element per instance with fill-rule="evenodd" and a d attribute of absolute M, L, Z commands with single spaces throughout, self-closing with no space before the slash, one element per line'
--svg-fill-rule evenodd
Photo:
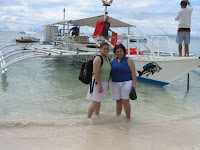
<path fill-rule="evenodd" d="M 200 65 L 198 57 L 131 56 L 138 81 L 164 86 L 186 75 Z M 148 65 L 149 66 L 148 66 Z M 149 68 L 148 68 L 149 67 Z"/>

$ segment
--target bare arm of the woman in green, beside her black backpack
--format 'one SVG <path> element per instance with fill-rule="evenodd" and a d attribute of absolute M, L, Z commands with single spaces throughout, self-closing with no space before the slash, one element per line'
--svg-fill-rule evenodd
<path fill-rule="evenodd" d="M 95 57 L 95 59 L 93 61 L 93 72 L 94 72 L 94 78 L 95 78 L 95 80 L 98 84 L 98 87 L 99 87 L 98 92 L 102 93 L 103 87 L 102 87 L 100 76 L 99 76 L 100 67 L 101 67 L 101 57 L 97 56 L 97 57 Z"/>

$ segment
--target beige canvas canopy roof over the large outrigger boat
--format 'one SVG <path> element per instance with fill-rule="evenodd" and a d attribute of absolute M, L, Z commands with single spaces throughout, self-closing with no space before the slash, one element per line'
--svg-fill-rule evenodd
<path fill-rule="evenodd" d="M 104 20 L 104 15 L 89 17 L 89 18 L 85 18 L 85 19 L 78 19 L 78 20 L 61 21 L 61 22 L 57 22 L 57 23 L 54 23 L 51 25 L 56 25 L 56 24 L 63 25 L 63 24 L 70 23 L 74 26 L 90 26 L 90 27 L 95 28 L 96 22 L 98 20 Z M 110 27 L 135 27 L 134 25 L 122 22 L 122 21 L 112 18 L 110 16 L 109 16 L 109 22 L 110 22 Z"/>

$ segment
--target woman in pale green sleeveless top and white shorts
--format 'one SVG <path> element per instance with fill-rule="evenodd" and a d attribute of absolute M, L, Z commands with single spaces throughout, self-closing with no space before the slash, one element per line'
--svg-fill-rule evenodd
<path fill-rule="evenodd" d="M 94 112 L 95 115 L 99 115 L 101 101 L 106 99 L 108 91 L 108 82 L 110 80 L 111 72 L 111 64 L 108 58 L 108 43 L 101 43 L 100 52 L 103 58 L 103 64 L 101 65 L 101 57 L 96 56 L 93 61 L 93 78 L 96 83 L 94 84 L 92 93 L 90 93 L 90 88 L 88 89 L 87 99 L 92 100 L 92 104 L 89 107 L 87 118 L 91 118 Z"/>

